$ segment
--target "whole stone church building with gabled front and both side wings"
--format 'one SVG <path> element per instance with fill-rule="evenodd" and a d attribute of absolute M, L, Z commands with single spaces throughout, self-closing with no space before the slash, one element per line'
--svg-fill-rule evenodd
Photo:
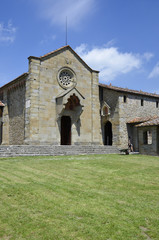
<path fill-rule="evenodd" d="M 137 125 L 159 117 L 159 95 L 99 84 L 70 46 L 28 59 L 28 72 L 0 88 L 0 144 L 123 148 L 131 137 L 140 150 Z"/>

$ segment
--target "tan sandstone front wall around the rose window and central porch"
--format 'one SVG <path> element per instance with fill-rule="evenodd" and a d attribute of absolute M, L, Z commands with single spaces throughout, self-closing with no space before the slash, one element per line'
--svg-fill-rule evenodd
<path fill-rule="evenodd" d="M 69 49 L 46 57 L 30 59 L 26 89 L 26 144 L 60 144 L 61 118 L 56 111 L 56 98 L 65 92 L 57 81 L 63 67 L 76 76 L 76 89 L 84 96 L 83 112 L 72 121 L 72 144 L 99 144 L 100 115 L 98 74 L 92 73 Z"/>

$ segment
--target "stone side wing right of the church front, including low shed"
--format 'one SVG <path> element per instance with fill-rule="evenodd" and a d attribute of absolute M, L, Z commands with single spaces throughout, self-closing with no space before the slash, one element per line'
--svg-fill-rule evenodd
<path fill-rule="evenodd" d="M 158 154 L 159 95 L 104 84 L 99 88 L 103 144 L 127 148 L 130 139 L 134 151 Z M 151 121 L 149 128 L 155 128 L 149 129 L 153 141 L 145 140 L 147 121 Z"/>

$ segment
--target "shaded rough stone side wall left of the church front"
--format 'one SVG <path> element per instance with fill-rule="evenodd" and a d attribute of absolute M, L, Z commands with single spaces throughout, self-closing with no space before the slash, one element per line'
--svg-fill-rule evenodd
<path fill-rule="evenodd" d="M 8 91 L 9 144 L 24 144 L 25 85 Z"/>

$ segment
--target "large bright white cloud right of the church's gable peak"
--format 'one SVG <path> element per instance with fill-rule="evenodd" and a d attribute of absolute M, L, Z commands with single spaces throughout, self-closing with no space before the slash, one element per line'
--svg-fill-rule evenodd
<path fill-rule="evenodd" d="M 153 55 L 143 55 L 120 52 L 116 47 L 94 47 L 88 50 L 86 44 L 81 44 L 75 51 L 93 69 L 100 71 L 101 81 L 111 81 L 121 74 L 141 69 L 144 61 L 148 61 Z"/>

